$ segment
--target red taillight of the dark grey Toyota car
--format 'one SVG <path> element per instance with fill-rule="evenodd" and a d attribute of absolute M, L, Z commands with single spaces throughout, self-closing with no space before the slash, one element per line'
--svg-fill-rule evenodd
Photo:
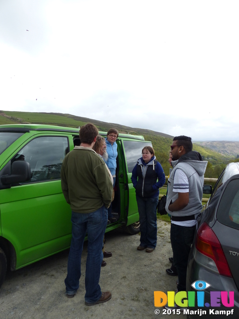
<path fill-rule="evenodd" d="M 199 228 L 195 246 L 201 254 L 211 258 L 215 262 L 220 275 L 233 277 L 222 246 L 207 223 L 203 223 Z"/>

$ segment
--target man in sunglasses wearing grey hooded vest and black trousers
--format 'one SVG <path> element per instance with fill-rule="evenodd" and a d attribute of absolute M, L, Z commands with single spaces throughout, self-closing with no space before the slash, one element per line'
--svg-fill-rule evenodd
<path fill-rule="evenodd" d="M 173 170 L 168 179 L 166 211 L 171 215 L 171 244 L 178 272 L 177 291 L 186 291 L 189 251 L 202 210 L 204 173 L 207 161 L 192 151 L 192 139 L 177 136 L 171 146 Z"/>

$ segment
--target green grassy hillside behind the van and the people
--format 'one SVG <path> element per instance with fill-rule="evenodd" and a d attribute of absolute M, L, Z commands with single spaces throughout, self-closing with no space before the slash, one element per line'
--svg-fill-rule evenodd
<path fill-rule="evenodd" d="M 109 128 L 115 127 L 120 133 L 143 135 L 146 141 L 152 142 L 157 160 L 159 160 L 160 163 L 163 165 L 165 173 L 168 173 L 169 164 L 167 160 L 173 137 L 165 133 L 154 132 L 140 128 L 131 128 L 116 123 L 107 123 L 84 117 L 74 116 L 71 114 L 0 111 L 0 125 L 48 124 L 78 128 L 89 122 L 95 124 L 100 131 L 108 131 Z M 194 144 L 193 149 L 200 152 L 205 159 L 210 158 L 212 164 L 226 163 L 228 160 L 231 159 L 230 157 L 219 154 L 202 145 Z"/>

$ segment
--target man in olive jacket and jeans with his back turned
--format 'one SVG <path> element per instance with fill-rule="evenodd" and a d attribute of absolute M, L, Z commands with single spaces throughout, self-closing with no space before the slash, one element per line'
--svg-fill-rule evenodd
<path fill-rule="evenodd" d="M 102 243 L 112 199 L 112 182 L 104 160 L 92 149 L 98 129 L 91 123 L 80 129 L 80 146 L 68 153 L 61 168 L 61 187 L 72 209 L 72 240 L 65 279 L 66 296 L 73 298 L 79 288 L 81 255 L 88 236 L 85 304 L 93 306 L 111 299 L 99 285 L 103 260 Z"/>

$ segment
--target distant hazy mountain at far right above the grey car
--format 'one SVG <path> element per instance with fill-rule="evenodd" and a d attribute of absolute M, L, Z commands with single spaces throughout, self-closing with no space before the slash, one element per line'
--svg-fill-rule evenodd
<path fill-rule="evenodd" d="M 196 142 L 200 146 L 211 149 L 222 155 L 237 157 L 239 155 L 239 142 L 230 141 L 207 141 L 207 142 Z"/>

